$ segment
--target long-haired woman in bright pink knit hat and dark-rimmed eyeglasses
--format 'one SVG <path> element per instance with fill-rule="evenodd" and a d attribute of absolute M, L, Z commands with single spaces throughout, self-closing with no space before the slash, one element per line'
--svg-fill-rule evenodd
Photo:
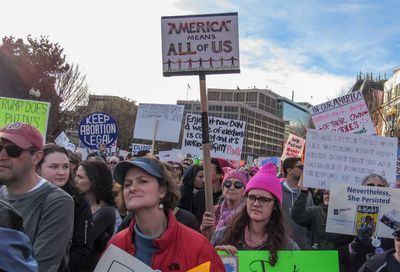
<path fill-rule="evenodd" d="M 269 263 L 278 262 L 278 250 L 298 250 L 288 237 L 282 211 L 282 186 L 272 163 L 264 165 L 247 183 L 246 206 L 231 224 L 216 231 L 212 244 L 217 250 L 269 250 Z"/>

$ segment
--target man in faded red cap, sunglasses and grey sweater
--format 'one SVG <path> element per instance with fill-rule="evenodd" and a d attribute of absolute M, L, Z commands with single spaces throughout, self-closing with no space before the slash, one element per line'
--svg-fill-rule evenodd
<path fill-rule="evenodd" d="M 16 122 L 0 128 L 0 199 L 21 214 L 39 271 L 59 271 L 68 264 L 74 202 L 36 173 L 43 143 L 30 125 Z"/>

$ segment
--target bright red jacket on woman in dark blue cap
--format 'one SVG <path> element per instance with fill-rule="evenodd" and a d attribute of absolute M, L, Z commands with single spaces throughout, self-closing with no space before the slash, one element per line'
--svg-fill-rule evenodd
<path fill-rule="evenodd" d="M 131 255 L 135 255 L 134 234 L 135 220 L 129 228 L 114 235 L 107 247 L 113 244 Z M 153 269 L 163 272 L 188 271 L 202 263 L 211 261 L 213 272 L 225 271 L 224 265 L 213 246 L 206 237 L 176 221 L 172 211 L 169 212 L 168 228 L 161 237 L 154 240 L 159 248 L 153 255 Z"/>

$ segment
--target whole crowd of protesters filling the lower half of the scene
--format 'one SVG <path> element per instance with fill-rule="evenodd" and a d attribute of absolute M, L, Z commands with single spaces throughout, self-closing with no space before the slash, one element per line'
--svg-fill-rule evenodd
<path fill-rule="evenodd" d="M 125 158 L 44 145 L 30 125 L 0 129 L 0 271 L 93 271 L 115 245 L 159 271 L 187 271 L 217 250 L 337 250 L 340 271 L 400 271 L 393 239 L 325 231 L 329 190 L 305 188 L 303 163 L 287 158 L 234 167 L 211 159 L 214 208 L 205 208 L 204 168 L 162 162 L 149 151 Z M 362 185 L 388 187 L 377 174 Z M 266 255 L 267 256 L 267 255 Z M 323 271 L 321 268 L 316 271 Z"/>

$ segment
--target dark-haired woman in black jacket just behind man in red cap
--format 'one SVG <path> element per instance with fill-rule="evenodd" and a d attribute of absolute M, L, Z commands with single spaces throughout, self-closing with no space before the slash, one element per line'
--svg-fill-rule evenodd
<path fill-rule="evenodd" d="M 73 185 L 68 151 L 56 144 L 45 145 L 37 172 L 74 200 L 74 231 L 68 268 L 70 271 L 81 271 L 86 267 L 93 249 L 93 216 L 85 195 Z"/>

